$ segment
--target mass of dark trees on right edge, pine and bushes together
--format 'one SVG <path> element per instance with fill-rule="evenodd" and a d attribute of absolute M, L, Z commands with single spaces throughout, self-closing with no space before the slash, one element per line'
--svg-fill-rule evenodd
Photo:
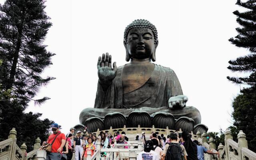
<path fill-rule="evenodd" d="M 249 87 L 243 88 L 241 94 L 234 98 L 232 107 L 234 111 L 234 126 L 230 129 L 238 132 L 243 130 L 248 140 L 248 148 L 256 152 L 256 0 L 241 2 L 237 5 L 248 9 L 246 12 L 233 13 L 238 16 L 236 21 L 242 26 L 236 28 L 238 35 L 230 38 L 229 41 L 238 47 L 247 48 L 248 54 L 236 60 L 230 60 L 228 69 L 233 72 L 249 73 L 248 77 L 227 77 L 228 80 L 236 84 L 248 84 Z"/>

